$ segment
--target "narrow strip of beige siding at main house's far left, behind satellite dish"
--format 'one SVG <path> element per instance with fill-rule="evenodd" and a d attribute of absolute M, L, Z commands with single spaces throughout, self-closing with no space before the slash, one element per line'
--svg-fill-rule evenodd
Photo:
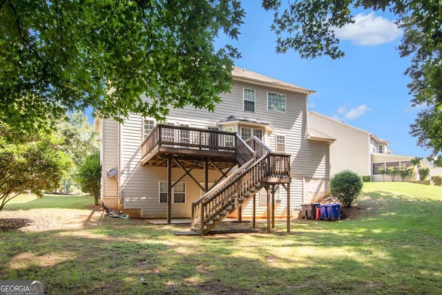
<path fill-rule="evenodd" d="M 106 171 L 118 167 L 118 123 L 115 120 L 102 121 L 102 201 L 111 209 L 118 209 L 118 184 L 114 178 L 106 177 Z M 117 175 L 119 177 L 119 175 Z"/>

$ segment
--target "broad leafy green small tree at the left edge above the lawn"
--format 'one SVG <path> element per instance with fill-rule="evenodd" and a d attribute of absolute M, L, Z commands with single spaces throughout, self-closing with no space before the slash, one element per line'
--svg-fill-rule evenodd
<path fill-rule="evenodd" d="M 0 134 L 0 211 L 21 193 L 51 191 L 70 168 L 70 160 L 56 149 L 51 135 L 37 135 L 27 142 L 6 140 Z"/>

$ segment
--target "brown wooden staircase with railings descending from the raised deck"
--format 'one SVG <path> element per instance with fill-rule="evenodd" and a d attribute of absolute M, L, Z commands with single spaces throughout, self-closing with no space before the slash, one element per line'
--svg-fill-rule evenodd
<path fill-rule="evenodd" d="M 238 142 L 242 142 L 237 157 L 240 168 L 192 203 L 191 229 L 201 235 L 257 193 L 269 177 L 289 177 L 289 155 L 272 153 L 257 137 L 247 142 L 240 138 Z"/>

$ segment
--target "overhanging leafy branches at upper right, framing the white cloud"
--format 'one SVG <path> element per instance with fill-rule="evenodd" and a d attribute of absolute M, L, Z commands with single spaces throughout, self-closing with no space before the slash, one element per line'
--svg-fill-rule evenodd
<path fill-rule="evenodd" d="M 398 46 L 401 57 L 412 57 L 405 74 L 413 95 L 413 106 L 423 105 L 410 133 L 425 149 L 430 149 L 436 164 L 442 164 L 442 5 L 439 0 L 298 0 L 281 6 L 280 0 L 263 0 L 273 10 L 272 30 L 278 35 L 276 51 L 297 50 L 302 58 L 328 55 L 343 57 L 336 28 L 354 22 L 354 8 L 390 10 L 403 29 Z"/>

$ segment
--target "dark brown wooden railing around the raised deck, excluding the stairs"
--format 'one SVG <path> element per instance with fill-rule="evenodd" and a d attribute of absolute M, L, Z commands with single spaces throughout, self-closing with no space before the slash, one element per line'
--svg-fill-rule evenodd
<path fill-rule="evenodd" d="M 141 144 L 142 156 L 157 146 L 236 153 L 237 137 L 234 132 L 157 124 Z"/>

